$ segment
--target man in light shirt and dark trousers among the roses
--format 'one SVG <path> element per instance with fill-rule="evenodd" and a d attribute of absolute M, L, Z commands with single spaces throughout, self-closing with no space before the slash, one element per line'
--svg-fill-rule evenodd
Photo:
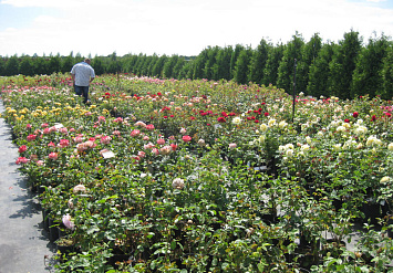
<path fill-rule="evenodd" d="M 95 77 L 94 70 L 92 66 L 90 66 L 90 59 L 85 59 L 83 62 L 75 64 L 71 70 L 75 93 L 79 96 L 83 96 L 84 104 L 90 102 L 89 85 Z"/>

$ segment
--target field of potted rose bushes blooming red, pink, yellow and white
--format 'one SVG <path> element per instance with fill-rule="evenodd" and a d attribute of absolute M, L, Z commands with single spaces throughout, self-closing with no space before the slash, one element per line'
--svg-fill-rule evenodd
<path fill-rule="evenodd" d="M 89 105 L 68 74 L 0 87 L 58 272 L 393 272 L 390 101 L 130 74 Z"/>

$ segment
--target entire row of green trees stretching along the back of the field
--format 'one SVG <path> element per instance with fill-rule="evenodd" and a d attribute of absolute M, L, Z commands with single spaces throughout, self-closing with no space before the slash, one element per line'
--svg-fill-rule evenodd
<path fill-rule="evenodd" d="M 122 72 L 161 78 L 232 80 L 240 84 L 271 84 L 291 93 L 296 70 L 296 90 L 306 95 L 354 98 L 368 94 L 385 99 L 393 96 L 391 38 L 374 33 L 363 42 L 353 30 L 337 43 L 322 42 L 319 33 L 304 41 L 296 32 L 286 44 L 262 39 L 255 49 L 242 44 L 207 46 L 197 56 L 143 53 L 117 56 L 114 52 L 87 57 L 92 59 L 97 75 Z M 68 56 L 0 56 L 0 75 L 66 73 L 83 59 L 73 52 Z"/>

